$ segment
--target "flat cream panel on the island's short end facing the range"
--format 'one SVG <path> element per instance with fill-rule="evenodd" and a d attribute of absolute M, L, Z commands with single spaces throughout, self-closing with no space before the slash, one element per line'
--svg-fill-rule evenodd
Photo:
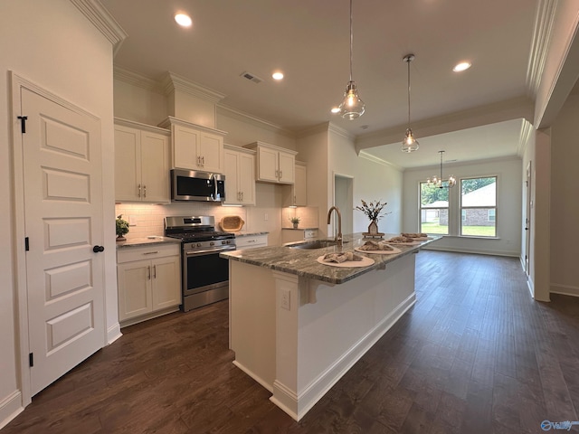
<path fill-rule="evenodd" d="M 230 260 L 229 266 L 233 363 L 272 392 L 276 357 L 275 279 L 271 269 L 236 260 Z"/>

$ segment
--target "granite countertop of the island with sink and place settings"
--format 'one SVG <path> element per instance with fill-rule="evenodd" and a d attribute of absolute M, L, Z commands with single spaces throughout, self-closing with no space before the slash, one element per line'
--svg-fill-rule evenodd
<path fill-rule="evenodd" d="M 384 240 L 396 235 L 400 234 L 385 234 Z M 402 251 L 394 255 L 379 255 L 356 251 L 356 254 L 367 256 L 375 260 L 373 265 L 365 268 L 331 267 L 318 263 L 318 257 L 333 251 L 338 251 L 337 246 L 313 250 L 290 249 L 289 247 L 283 246 L 260 247 L 251 250 L 223 252 L 220 253 L 220 256 L 224 259 L 239 260 L 240 262 L 247 264 L 275 269 L 289 274 L 296 274 L 304 278 L 312 278 L 324 282 L 340 284 L 367 273 L 372 269 L 384 268 L 386 264 L 394 262 L 394 260 L 402 258 L 403 256 L 411 255 L 420 250 L 426 244 L 440 239 L 440 236 L 432 236 L 432 240 L 420 241 L 420 244 L 415 246 L 396 245 L 396 248 Z M 332 239 L 328 238 L 328 240 Z M 342 251 L 353 251 L 356 247 L 362 246 L 365 241 L 367 240 L 364 239 L 362 233 L 345 235 Z"/>

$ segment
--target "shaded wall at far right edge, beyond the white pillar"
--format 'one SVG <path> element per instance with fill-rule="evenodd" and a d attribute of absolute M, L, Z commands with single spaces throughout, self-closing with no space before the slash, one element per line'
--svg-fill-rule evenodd
<path fill-rule="evenodd" d="M 579 95 L 567 99 L 551 127 L 550 290 L 579 296 Z"/>

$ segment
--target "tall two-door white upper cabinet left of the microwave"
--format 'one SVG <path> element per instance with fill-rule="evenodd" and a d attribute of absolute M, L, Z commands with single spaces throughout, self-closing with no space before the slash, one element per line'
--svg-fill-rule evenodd
<path fill-rule="evenodd" d="M 171 202 L 170 132 L 115 118 L 115 200 Z"/>

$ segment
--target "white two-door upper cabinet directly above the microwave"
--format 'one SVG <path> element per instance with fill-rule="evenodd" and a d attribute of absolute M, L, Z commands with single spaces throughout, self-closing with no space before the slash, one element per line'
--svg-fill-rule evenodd
<path fill-rule="evenodd" d="M 223 137 L 227 133 L 173 117 L 159 127 L 171 129 L 172 168 L 223 174 Z"/>

